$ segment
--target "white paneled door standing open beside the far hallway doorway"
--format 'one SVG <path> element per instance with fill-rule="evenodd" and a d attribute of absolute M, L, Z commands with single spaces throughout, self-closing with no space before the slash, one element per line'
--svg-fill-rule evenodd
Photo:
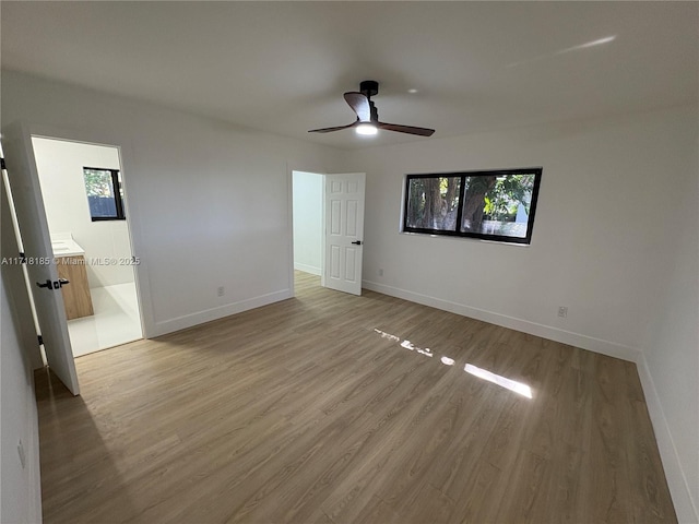
<path fill-rule="evenodd" d="M 366 175 L 325 175 L 325 264 L 322 284 L 362 295 Z"/>

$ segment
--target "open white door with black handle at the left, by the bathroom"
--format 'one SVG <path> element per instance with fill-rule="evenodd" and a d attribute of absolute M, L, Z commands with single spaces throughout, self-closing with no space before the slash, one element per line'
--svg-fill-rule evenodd
<path fill-rule="evenodd" d="M 26 267 L 44 340 L 46 360 L 51 371 L 71 393 L 78 395 L 80 388 L 68 336 L 61 284 L 58 269 L 54 263 L 54 250 L 44 211 L 32 136 L 26 127 L 21 123 L 4 127 L 2 150 L 24 254 L 27 259 Z"/>

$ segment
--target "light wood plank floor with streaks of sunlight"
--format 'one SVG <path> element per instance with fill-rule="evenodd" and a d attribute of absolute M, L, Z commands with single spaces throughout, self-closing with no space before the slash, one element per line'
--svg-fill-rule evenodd
<path fill-rule="evenodd" d="M 44 522 L 676 522 L 635 365 L 318 283 L 37 372 Z"/>

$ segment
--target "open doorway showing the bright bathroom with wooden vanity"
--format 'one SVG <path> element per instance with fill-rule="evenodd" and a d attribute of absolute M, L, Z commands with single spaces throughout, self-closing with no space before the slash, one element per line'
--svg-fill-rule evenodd
<path fill-rule="evenodd" d="M 43 136 L 32 145 L 59 273 L 71 271 L 63 300 L 73 356 L 142 338 L 127 206 L 111 216 L 103 205 L 126 200 L 119 147 Z"/>

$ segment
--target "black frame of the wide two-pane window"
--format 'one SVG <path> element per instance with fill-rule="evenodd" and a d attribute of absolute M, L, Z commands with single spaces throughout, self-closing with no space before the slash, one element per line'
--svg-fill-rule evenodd
<path fill-rule="evenodd" d="M 536 214 L 536 203 L 538 200 L 538 190 L 542 181 L 543 167 L 529 167 L 529 168 L 514 168 L 514 169 L 488 169 L 488 170 L 475 170 L 475 171 L 452 171 L 452 172 L 428 172 L 428 174 L 413 174 L 405 176 L 405 192 L 403 194 L 403 233 L 435 235 L 446 237 L 462 237 L 462 238 L 476 238 L 479 240 L 488 240 L 494 242 L 503 243 L 519 243 L 531 245 L 532 233 L 534 229 L 534 217 Z M 463 221 L 463 207 L 465 199 L 465 179 L 470 177 L 501 177 L 507 175 L 534 175 L 534 186 L 532 188 L 532 200 L 530 202 L 530 210 L 526 221 L 526 236 L 525 237 L 511 237 L 507 235 L 485 234 L 485 233 L 472 233 L 462 231 Z M 428 178 L 461 178 L 459 187 L 459 200 L 457 204 L 457 219 L 454 230 L 445 229 L 431 229 L 424 227 L 412 227 L 407 225 L 408 221 L 408 200 L 411 191 L 411 180 L 415 179 L 428 179 Z"/>

